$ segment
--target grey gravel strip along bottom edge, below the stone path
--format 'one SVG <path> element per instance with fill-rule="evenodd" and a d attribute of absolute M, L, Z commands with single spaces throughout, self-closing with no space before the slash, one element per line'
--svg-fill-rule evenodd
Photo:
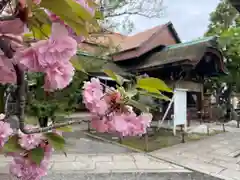
<path fill-rule="evenodd" d="M 193 173 L 49 174 L 43 180 L 221 180 Z"/>

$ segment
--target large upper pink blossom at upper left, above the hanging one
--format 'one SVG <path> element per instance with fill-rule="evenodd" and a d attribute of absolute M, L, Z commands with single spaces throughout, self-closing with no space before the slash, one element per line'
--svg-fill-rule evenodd
<path fill-rule="evenodd" d="M 44 72 L 58 62 L 67 62 L 77 52 L 76 41 L 68 36 L 66 28 L 53 23 L 52 36 L 27 48 L 20 57 L 20 63 L 30 71 Z M 32 62 L 31 62 L 32 61 Z"/>

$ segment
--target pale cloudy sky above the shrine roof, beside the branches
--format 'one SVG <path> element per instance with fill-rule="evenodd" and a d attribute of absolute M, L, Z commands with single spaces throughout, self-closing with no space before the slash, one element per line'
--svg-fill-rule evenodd
<path fill-rule="evenodd" d="M 132 34 L 172 21 L 182 41 L 203 36 L 209 24 L 209 14 L 220 0 L 164 0 L 165 12 L 159 19 L 133 16 L 135 29 Z"/>

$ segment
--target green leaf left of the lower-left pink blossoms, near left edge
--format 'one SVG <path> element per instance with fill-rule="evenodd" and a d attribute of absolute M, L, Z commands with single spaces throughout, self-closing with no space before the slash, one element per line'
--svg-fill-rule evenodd
<path fill-rule="evenodd" d="M 8 141 L 3 146 L 3 152 L 13 153 L 13 152 L 22 152 L 23 148 L 18 143 L 18 136 L 11 136 Z"/>

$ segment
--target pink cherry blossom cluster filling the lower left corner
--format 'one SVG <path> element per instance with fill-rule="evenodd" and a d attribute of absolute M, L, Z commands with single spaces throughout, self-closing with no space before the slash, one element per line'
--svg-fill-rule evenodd
<path fill-rule="evenodd" d="M 7 152 L 5 155 L 12 157 L 10 163 L 10 173 L 12 176 L 19 180 L 40 180 L 41 177 L 47 174 L 50 158 L 53 153 L 53 148 L 48 143 L 46 137 L 42 134 L 23 134 L 13 132 L 9 123 L 4 121 L 4 115 L 1 114 L 0 121 L 0 145 L 1 147 L 10 139 L 16 138 L 17 143 L 20 145 L 19 151 Z M 27 126 L 27 128 L 34 128 Z M 59 133 L 58 133 L 59 134 Z M 37 164 L 31 159 L 31 151 L 35 148 L 40 148 L 44 152 L 44 157 L 40 164 Z"/>

